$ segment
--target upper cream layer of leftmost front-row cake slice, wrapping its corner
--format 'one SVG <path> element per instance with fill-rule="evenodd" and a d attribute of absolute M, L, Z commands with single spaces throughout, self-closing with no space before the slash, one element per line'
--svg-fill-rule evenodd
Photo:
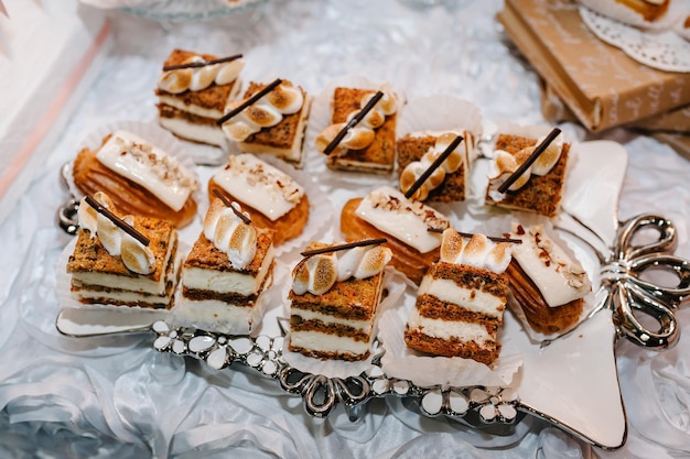
<path fill-rule="evenodd" d="M 168 263 L 171 262 L 171 256 L 172 256 L 172 250 L 173 247 L 175 247 L 175 241 L 176 241 L 176 233 L 173 233 L 173 236 L 170 238 L 170 241 L 168 243 L 168 252 L 165 253 L 165 262 L 162 265 L 162 270 L 163 272 L 165 272 L 165 270 L 168 269 Z M 73 282 L 76 282 L 77 285 L 83 285 L 83 288 L 88 289 L 89 285 L 94 285 L 94 286 L 99 286 L 99 287 L 106 287 L 106 288 L 115 288 L 117 291 L 130 291 L 130 292 L 139 292 L 139 293 L 143 293 L 143 294 L 148 294 L 148 295 L 164 295 L 165 294 L 165 286 L 168 284 L 168 282 L 171 280 L 171 277 L 174 278 L 174 276 L 176 276 L 177 274 L 177 267 L 179 267 L 179 260 L 175 260 L 175 267 L 172 270 L 172 272 L 170 273 L 170 276 L 164 276 L 161 275 L 161 278 L 158 281 L 153 281 L 149 277 L 145 276 L 138 276 L 138 277 L 129 277 L 129 276 L 123 276 L 123 275 L 118 275 L 118 274 L 111 274 L 111 273 L 95 273 L 95 272 L 75 272 L 72 273 L 72 280 Z M 109 294 L 109 293 L 96 293 L 96 295 L 98 296 L 112 296 L 115 297 L 115 295 L 117 294 Z"/>

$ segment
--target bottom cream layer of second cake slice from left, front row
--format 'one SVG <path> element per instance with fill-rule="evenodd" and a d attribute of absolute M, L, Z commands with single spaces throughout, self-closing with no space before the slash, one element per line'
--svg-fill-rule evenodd
<path fill-rule="evenodd" d="M 172 310 L 172 324 L 219 334 L 248 335 L 260 323 L 262 312 L 263 295 L 259 295 L 252 307 L 218 299 L 183 298 Z"/>

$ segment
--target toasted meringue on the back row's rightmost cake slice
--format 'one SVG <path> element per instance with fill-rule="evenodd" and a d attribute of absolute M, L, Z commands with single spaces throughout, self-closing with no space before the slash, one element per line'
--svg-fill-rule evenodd
<path fill-rule="evenodd" d="M 504 178 L 508 178 L 510 174 L 518 170 L 520 164 L 529 159 L 537 145 L 539 145 L 545 139 L 546 136 L 539 138 L 533 146 L 522 149 L 515 155 L 503 150 L 494 151 L 494 161 L 489 167 L 489 178 L 497 178 L 502 175 Z M 520 189 L 529 182 L 532 174 L 539 176 L 548 174 L 561 157 L 562 150 L 563 134 L 561 133 L 551 143 L 549 143 L 547 149 L 541 152 L 531 166 L 527 167 L 525 173 L 522 173 L 522 175 L 520 175 L 518 179 L 508 187 L 508 189 L 511 192 Z"/>

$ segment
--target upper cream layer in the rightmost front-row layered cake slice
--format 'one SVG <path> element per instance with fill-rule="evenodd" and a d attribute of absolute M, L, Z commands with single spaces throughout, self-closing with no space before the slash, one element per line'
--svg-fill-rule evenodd
<path fill-rule="evenodd" d="M 503 309 L 498 310 L 498 308 L 505 306 L 505 303 L 500 298 L 486 292 L 461 287 L 446 278 L 424 276 L 419 285 L 418 295 L 421 294 L 435 296 L 444 303 L 462 306 L 473 313 L 497 318 L 503 317 Z"/>

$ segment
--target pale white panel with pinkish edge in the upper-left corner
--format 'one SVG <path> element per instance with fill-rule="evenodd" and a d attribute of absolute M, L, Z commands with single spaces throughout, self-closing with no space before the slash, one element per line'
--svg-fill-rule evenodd
<path fill-rule="evenodd" d="M 0 223 L 57 143 L 110 47 L 78 0 L 0 0 Z"/>

